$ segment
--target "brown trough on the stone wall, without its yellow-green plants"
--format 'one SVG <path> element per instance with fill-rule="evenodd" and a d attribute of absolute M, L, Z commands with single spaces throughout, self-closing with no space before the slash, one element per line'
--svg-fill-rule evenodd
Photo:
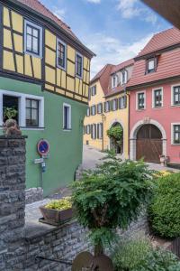
<path fill-rule="evenodd" d="M 40 212 L 49 224 L 52 223 L 63 223 L 67 220 L 72 219 L 73 217 L 73 209 L 69 208 L 67 210 L 55 210 L 55 209 L 47 209 L 45 206 L 40 206 Z"/>

